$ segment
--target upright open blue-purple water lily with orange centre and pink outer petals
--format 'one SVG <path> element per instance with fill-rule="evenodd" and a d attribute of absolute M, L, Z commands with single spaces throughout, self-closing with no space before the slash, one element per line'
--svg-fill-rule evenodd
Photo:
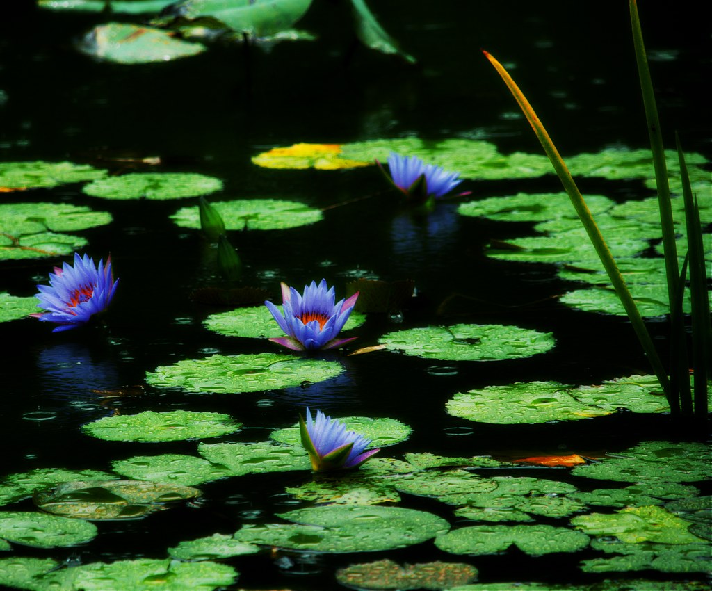
<path fill-rule="evenodd" d="M 356 298 L 358 292 L 347 300 L 334 303 L 334 288 L 328 288 L 325 279 L 318 286 L 314 281 L 305 286 L 303 295 L 282 283 L 283 313 L 269 301 L 265 305 L 287 336 L 270 340 L 295 351 L 333 349 L 350 342 L 355 337 L 336 337 L 344 328 Z"/>

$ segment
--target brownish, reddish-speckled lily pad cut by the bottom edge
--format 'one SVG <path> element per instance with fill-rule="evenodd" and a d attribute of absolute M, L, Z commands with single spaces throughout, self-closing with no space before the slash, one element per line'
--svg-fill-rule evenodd
<path fill-rule="evenodd" d="M 353 589 L 440 590 L 477 580 L 477 569 L 462 563 L 419 563 L 401 566 L 392 560 L 351 565 L 336 571 L 336 580 Z"/>

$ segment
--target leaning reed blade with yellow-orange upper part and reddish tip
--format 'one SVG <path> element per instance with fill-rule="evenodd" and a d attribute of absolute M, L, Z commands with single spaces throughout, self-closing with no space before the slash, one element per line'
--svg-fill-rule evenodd
<path fill-rule="evenodd" d="M 618 269 L 618 266 L 616 265 L 616 262 L 614 261 L 611 251 L 608 249 L 608 246 L 603 239 L 600 229 L 598 229 L 598 226 L 595 220 L 593 219 L 591 211 L 590 209 L 588 209 L 588 206 L 584 201 L 580 191 L 578 190 L 574 179 L 572 179 L 569 169 L 567 168 L 565 162 L 557 151 L 554 143 L 549 137 L 549 134 L 546 132 L 544 125 L 542 124 L 542 122 L 540 122 L 539 117 L 537 117 L 528 100 L 525 98 L 522 91 L 519 90 L 519 87 L 515 84 L 514 80 L 508 74 L 507 70 L 489 53 L 487 53 L 486 51 L 483 51 L 483 53 L 490 61 L 490 63 L 494 66 L 494 68 L 497 70 L 502 80 L 504 80 L 504 83 L 507 85 L 507 88 L 509 88 L 510 92 L 514 96 L 519 107 L 527 118 L 529 125 L 531 125 L 536 136 L 539 138 L 539 141 L 541 142 L 541 145 L 544 148 L 544 152 L 546 152 L 546 155 L 549 157 L 551 164 L 553 165 L 556 171 L 556 174 L 558 175 L 562 185 L 564 186 L 565 191 L 571 199 L 571 203 L 573 204 L 576 213 L 581 219 L 581 222 L 584 228 L 586 229 L 587 234 L 594 248 L 596 249 L 599 258 L 601 259 L 601 262 L 603 263 L 603 266 L 606 272 L 608 273 L 608 277 L 611 280 L 611 283 L 613 284 L 613 287 L 615 288 L 619 299 L 621 300 L 621 303 L 628 315 L 628 318 L 630 319 L 630 322 L 633 326 L 633 330 L 635 331 L 638 340 L 640 341 L 640 344 L 642 345 L 643 350 L 645 351 L 645 354 L 647 355 L 648 360 L 653 367 L 655 375 L 658 378 L 666 397 L 668 398 L 670 407 L 671 409 L 674 409 L 674 402 L 676 401 L 673 401 L 671 399 L 670 382 L 665 372 L 665 368 L 663 367 L 662 362 L 660 361 L 660 357 L 658 356 L 655 350 L 648 330 L 643 322 L 643 318 L 640 315 L 637 306 L 635 305 L 630 291 L 628 291 L 628 287 Z"/>

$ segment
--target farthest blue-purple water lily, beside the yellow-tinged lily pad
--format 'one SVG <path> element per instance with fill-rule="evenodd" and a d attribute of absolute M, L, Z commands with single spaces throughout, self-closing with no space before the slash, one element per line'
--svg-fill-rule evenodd
<path fill-rule="evenodd" d="M 376 161 L 380 166 L 380 162 Z M 381 167 L 383 170 L 383 168 Z M 425 202 L 443 197 L 462 182 L 459 173 L 447 172 L 443 167 L 425 164 L 417 156 L 403 156 L 391 152 L 386 176 L 408 199 Z"/>

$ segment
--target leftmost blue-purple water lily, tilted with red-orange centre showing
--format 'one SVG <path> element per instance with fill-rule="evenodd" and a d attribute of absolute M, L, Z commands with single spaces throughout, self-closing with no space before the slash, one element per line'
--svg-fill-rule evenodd
<path fill-rule="evenodd" d="M 46 322 L 58 326 L 52 331 L 77 328 L 88 322 L 97 313 L 103 312 L 114 297 L 118 280 L 114 281 L 111 273 L 111 257 L 99 261 L 99 267 L 93 258 L 82 258 L 74 253 L 74 266 L 64 263 L 62 268 L 55 267 L 50 273 L 48 286 L 37 286 L 40 293 L 35 297 L 40 300 L 38 308 L 45 312 L 31 314 Z"/>

